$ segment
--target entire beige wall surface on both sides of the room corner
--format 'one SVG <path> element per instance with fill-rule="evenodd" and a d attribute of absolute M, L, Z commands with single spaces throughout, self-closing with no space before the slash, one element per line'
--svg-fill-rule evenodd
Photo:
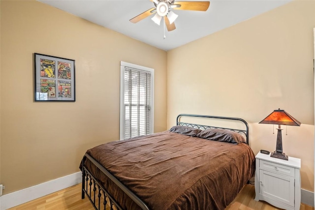
<path fill-rule="evenodd" d="M 155 132 L 179 113 L 240 117 L 254 152 L 273 151 L 272 126 L 258 122 L 286 110 L 302 125 L 284 130 L 284 152 L 302 158 L 302 188 L 314 191 L 314 8 L 293 1 L 166 53 L 37 1 L 1 0 L 4 193 L 78 172 L 87 149 L 119 139 L 121 60 L 155 69 Z M 76 102 L 33 102 L 33 53 L 76 60 Z"/>

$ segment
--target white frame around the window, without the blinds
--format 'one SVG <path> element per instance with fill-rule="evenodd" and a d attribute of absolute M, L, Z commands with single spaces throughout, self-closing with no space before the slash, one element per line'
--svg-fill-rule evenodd
<path fill-rule="evenodd" d="M 151 134 L 154 133 L 154 69 L 128 63 L 125 61 L 120 62 L 120 127 L 119 139 L 125 139 L 125 67 L 134 68 L 139 71 L 151 73 Z"/>

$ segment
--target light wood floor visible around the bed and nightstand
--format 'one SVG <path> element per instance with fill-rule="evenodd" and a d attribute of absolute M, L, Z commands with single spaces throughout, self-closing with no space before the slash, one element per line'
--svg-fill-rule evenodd
<path fill-rule="evenodd" d="M 247 184 L 226 210 L 280 210 L 266 202 L 254 201 L 254 196 L 254 186 Z M 94 208 L 88 198 L 81 199 L 81 184 L 77 184 L 9 210 L 94 210 Z M 301 204 L 300 210 L 314 210 L 314 208 Z"/>

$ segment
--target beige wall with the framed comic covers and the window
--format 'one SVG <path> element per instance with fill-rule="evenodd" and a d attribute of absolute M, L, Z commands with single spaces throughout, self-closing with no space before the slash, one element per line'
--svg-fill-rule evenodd
<path fill-rule="evenodd" d="M 166 129 L 167 53 L 38 1 L 0 1 L 4 193 L 79 171 L 119 139 L 120 61 L 155 69 L 155 132 Z M 75 60 L 76 102 L 33 101 L 33 53 Z"/>

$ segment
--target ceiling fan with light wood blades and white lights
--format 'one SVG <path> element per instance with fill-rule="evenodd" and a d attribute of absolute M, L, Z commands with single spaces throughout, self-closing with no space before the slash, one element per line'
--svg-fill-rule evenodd
<path fill-rule="evenodd" d="M 151 18 L 156 24 L 160 25 L 162 17 L 168 31 L 175 30 L 174 21 L 178 17 L 171 9 L 181 10 L 194 10 L 194 11 L 207 11 L 210 1 L 175 1 L 175 0 L 151 0 L 154 2 L 155 8 L 148 9 L 147 11 L 130 19 L 131 23 L 137 23 L 144 18 L 154 14 Z"/>

